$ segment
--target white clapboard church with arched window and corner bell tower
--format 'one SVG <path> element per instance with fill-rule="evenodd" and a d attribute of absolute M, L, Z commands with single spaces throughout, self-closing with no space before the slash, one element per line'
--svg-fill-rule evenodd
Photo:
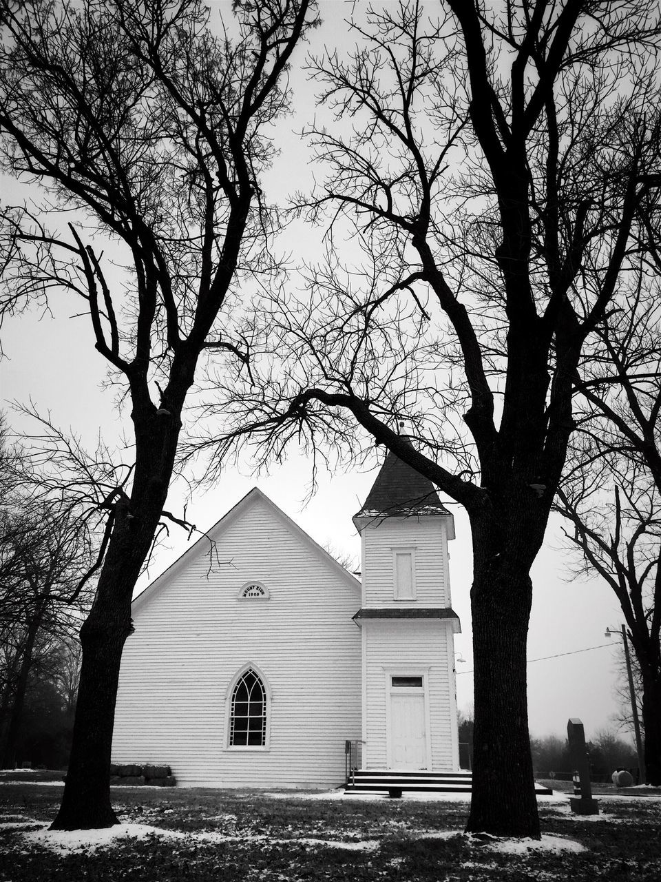
<path fill-rule="evenodd" d="M 255 488 L 146 588 L 113 762 L 183 786 L 333 787 L 351 742 L 364 769 L 457 771 L 452 515 L 389 453 L 353 523 L 360 580 Z"/>

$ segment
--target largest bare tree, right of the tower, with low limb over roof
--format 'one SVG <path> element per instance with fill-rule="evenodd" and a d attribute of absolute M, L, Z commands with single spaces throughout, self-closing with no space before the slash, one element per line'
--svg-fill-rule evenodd
<path fill-rule="evenodd" d="M 200 444 L 252 432 L 264 456 L 289 437 L 353 451 L 371 438 L 464 505 L 468 829 L 538 837 L 530 568 L 583 342 L 657 235 L 657 6 L 446 0 L 427 16 L 400 0 L 353 34 L 350 56 L 309 66 L 335 118 L 308 131 L 325 177 L 299 208 L 330 219 L 326 263 L 308 268 L 303 296 L 274 297 L 270 385 L 245 389 L 219 446 Z"/>

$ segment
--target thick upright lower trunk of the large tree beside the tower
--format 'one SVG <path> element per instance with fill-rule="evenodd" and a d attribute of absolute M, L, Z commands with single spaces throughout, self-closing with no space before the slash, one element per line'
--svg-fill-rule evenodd
<path fill-rule="evenodd" d="M 471 521 L 475 728 L 466 830 L 538 839 L 526 694 L 529 570 L 538 531 L 493 515 Z"/>

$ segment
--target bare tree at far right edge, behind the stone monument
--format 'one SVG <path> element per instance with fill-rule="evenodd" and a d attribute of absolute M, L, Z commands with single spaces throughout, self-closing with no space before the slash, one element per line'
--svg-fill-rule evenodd
<path fill-rule="evenodd" d="M 648 259 L 648 258 L 645 258 Z M 657 267 L 655 267 L 657 270 Z M 578 430 L 555 508 L 613 588 L 642 684 L 645 776 L 661 784 L 661 305 L 645 273 L 584 360 Z"/>

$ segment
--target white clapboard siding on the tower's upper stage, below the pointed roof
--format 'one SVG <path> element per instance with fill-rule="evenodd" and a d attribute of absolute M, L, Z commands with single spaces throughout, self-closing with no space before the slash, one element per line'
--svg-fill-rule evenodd
<path fill-rule="evenodd" d="M 362 530 L 362 604 L 400 605 L 395 600 L 395 549 L 412 549 L 415 604 L 449 606 L 446 518 L 427 515 L 375 520 Z"/>

